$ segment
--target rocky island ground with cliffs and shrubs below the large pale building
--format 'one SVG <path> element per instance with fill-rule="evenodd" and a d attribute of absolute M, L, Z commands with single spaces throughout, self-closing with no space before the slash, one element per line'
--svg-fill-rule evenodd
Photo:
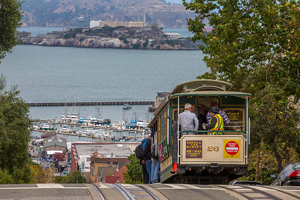
<path fill-rule="evenodd" d="M 158 27 L 124 27 L 102 26 L 93 28 L 67 28 L 66 31 L 53 31 L 38 34 L 36 37 L 25 37 L 22 32 L 19 40 L 26 45 L 144 49 L 144 50 L 199 50 L 199 42 L 193 43 L 190 38 L 180 34 L 164 33 Z"/>

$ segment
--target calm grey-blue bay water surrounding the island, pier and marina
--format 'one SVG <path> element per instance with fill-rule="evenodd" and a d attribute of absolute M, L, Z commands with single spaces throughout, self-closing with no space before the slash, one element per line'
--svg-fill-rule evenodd
<path fill-rule="evenodd" d="M 22 27 L 32 35 L 62 27 Z M 187 29 L 169 28 L 192 36 Z M 181 32 L 180 32 L 181 31 Z M 18 85 L 21 97 L 29 101 L 154 100 L 156 92 L 172 91 L 182 82 L 207 71 L 200 50 L 122 50 L 18 45 L 0 64 L 8 88 Z M 130 120 L 148 117 L 148 105 L 133 105 L 125 111 Z M 77 109 L 77 108 L 76 108 Z M 53 119 L 64 106 L 31 107 L 34 119 Z M 71 112 L 72 107 L 67 107 Z M 80 107 L 80 113 L 95 115 L 95 106 Z M 123 118 L 122 106 L 101 106 L 103 118 Z M 149 118 L 152 117 L 150 113 Z M 37 133 L 38 134 L 38 133 Z M 63 136 L 64 137 L 64 136 Z M 69 140 L 76 141 L 78 138 Z"/>

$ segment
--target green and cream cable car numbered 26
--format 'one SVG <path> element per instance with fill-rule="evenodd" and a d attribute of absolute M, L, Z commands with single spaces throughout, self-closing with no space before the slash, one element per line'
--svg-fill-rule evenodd
<path fill-rule="evenodd" d="M 160 162 L 160 182 L 227 184 L 247 174 L 250 145 L 250 94 L 229 91 L 232 84 L 219 80 L 193 80 L 175 87 L 155 110 L 148 127 Z M 212 102 L 230 122 L 212 135 L 209 130 L 181 131 L 178 115 L 184 105 L 196 106 L 199 127 L 206 123 Z M 179 112 L 178 112 L 179 110 Z M 182 135 L 184 132 L 193 134 Z"/>

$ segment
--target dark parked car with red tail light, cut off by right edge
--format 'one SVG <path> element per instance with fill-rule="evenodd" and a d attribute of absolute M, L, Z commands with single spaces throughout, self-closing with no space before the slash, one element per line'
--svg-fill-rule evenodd
<path fill-rule="evenodd" d="M 288 164 L 277 177 L 274 174 L 271 177 L 276 178 L 271 185 L 300 186 L 300 162 Z"/>

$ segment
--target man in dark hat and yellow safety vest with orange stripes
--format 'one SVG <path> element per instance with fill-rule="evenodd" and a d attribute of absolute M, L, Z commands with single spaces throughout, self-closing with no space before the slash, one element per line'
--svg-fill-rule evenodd
<path fill-rule="evenodd" d="M 223 130 L 223 118 L 220 114 L 218 114 L 218 109 L 216 106 L 210 108 L 211 119 L 209 120 L 209 124 L 202 124 L 204 130 Z M 209 134 L 209 132 L 208 132 Z M 211 134 L 211 133 L 210 133 Z M 223 134 L 223 132 L 212 132 L 212 134 Z"/>

